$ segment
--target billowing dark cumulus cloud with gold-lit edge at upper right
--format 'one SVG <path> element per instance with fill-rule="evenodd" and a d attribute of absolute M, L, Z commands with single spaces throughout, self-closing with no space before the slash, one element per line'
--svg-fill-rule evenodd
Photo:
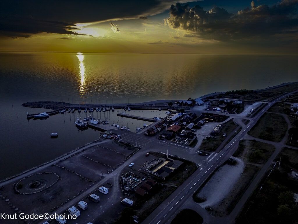
<path fill-rule="evenodd" d="M 230 14 L 224 8 L 213 7 L 204 11 L 202 7 L 188 7 L 177 3 L 170 7 L 170 17 L 165 23 L 173 28 L 193 31 L 203 39 L 221 41 L 268 38 L 274 34 L 296 32 L 298 0 L 283 0 L 269 7 L 265 4 Z M 292 31 L 289 31 L 292 30 Z M 190 36 L 190 34 L 187 34 Z M 185 35 L 185 36 L 187 36 Z"/>

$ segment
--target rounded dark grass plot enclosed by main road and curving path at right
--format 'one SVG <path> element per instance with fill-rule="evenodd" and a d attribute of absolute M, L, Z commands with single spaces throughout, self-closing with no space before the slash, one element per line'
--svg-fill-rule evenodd
<path fill-rule="evenodd" d="M 248 132 L 256 138 L 280 142 L 286 134 L 288 125 L 280 114 L 265 113 Z"/>

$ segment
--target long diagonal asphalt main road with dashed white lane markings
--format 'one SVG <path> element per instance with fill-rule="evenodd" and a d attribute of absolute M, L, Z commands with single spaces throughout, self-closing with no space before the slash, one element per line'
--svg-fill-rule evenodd
<path fill-rule="evenodd" d="M 294 91 L 297 92 L 297 91 Z M 294 93 L 292 92 L 292 93 Z M 290 94 L 292 94 L 290 93 Z M 204 183 L 204 181 L 213 173 L 213 171 L 225 162 L 235 152 L 240 139 L 256 124 L 260 117 L 277 101 L 287 96 L 288 93 L 274 99 L 265 108 L 263 108 L 257 115 L 254 116 L 244 128 L 224 147 L 212 160 L 211 163 L 198 169 L 193 175 L 188 178 L 170 197 L 167 198 L 158 208 L 156 208 L 142 223 L 145 224 L 166 224 L 176 216 L 181 206 L 188 200 L 193 200 L 193 193 Z M 208 223 L 208 220 L 204 220 Z M 233 220 L 226 220 L 228 223 Z"/>

